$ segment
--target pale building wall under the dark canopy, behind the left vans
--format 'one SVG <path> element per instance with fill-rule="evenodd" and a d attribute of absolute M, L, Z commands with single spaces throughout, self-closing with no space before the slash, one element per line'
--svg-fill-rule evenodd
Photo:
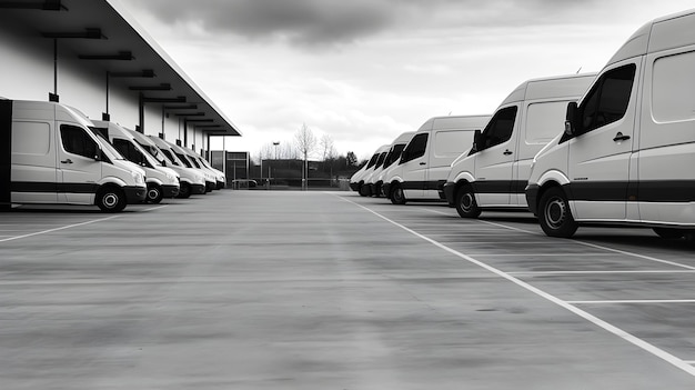
<path fill-rule="evenodd" d="M 0 23 L 0 97 L 14 100 L 48 101 L 53 92 L 53 40 L 13 21 Z M 142 83 L 150 80 L 143 79 Z M 133 83 L 133 79 L 128 79 Z M 58 94 L 60 102 L 74 107 L 91 119 L 101 120 L 107 111 L 107 71 L 103 62 L 80 60 L 78 53 L 58 40 Z M 139 124 L 139 94 L 128 90 L 122 79 L 109 79 L 111 121 L 134 130 Z M 144 106 L 144 133 L 183 144 L 183 120 L 162 116 L 162 104 Z M 163 130 L 162 130 L 163 127 Z M 207 149 L 203 132 L 189 127 L 188 146 L 195 152 Z"/>

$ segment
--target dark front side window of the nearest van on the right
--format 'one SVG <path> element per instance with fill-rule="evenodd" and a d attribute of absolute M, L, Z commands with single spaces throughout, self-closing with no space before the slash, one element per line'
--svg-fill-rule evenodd
<path fill-rule="evenodd" d="M 577 133 L 598 129 L 625 116 L 635 71 L 635 64 L 631 63 L 603 73 L 580 108 L 582 128 Z"/>

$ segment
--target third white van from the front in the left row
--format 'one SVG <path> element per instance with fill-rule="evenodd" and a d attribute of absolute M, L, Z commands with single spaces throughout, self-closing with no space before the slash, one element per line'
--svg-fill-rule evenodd
<path fill-rule="evenodd" d="M 173 150 L 171 150 L 169 142 L 152 136 L 143 136 L 140 133 L 134 133 L 133 136 L 135 141 L 141 146 L 144 147 L 145 143 L 148 143 L 149 147 L 145 148 L 145 150 L 150 151 L 153 156 L 159 156 L 158 152 L 161 152 L 165 157 L 165 166 L 179 173 L 181 181 L 179 182 L 180 188 L 177 198 L 189 198 L 191 194 L 205 193 L 205 178 L 203 174 L 198 170 L 189 168 L 190 163 L 179 160 Z M 157 150 L 152 149 L 152 146 L 154 146 Z M 160 161 L 162 161 L 161 157 Z"/>

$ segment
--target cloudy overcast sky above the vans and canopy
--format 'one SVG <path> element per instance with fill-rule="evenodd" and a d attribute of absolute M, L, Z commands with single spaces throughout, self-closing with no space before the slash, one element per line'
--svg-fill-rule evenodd
<path fill-rule="evenodd" d="M 532 78 L 598 71 L 642 24 L 695 0 L 121 0 L 243 132 L 302 123 L 366 158 L 427 118 L 492 113 Z M 221 149 L 222 142 L 213 142 Z"/>

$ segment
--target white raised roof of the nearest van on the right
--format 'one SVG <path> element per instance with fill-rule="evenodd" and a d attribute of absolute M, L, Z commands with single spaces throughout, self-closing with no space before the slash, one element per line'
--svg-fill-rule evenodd
<path fill-rule="evenodd" d="M 607 66 L 628 58 L 695 44 L 695 9 L 654 19 L 635 31 Z"/>

